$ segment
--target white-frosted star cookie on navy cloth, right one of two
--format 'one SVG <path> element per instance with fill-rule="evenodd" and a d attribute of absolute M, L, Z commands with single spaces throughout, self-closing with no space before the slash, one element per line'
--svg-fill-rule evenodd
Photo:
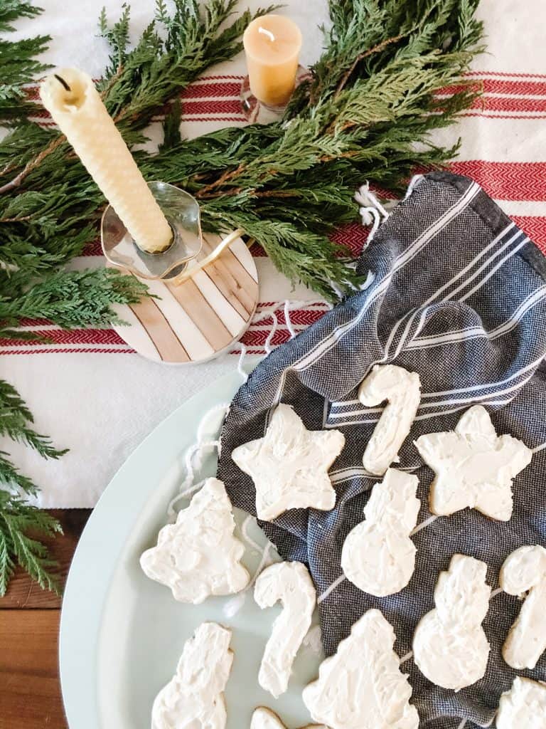
<path fill-rule="evenodd" d="M 491 519 L 510 519 L 512 480 L 531 463 L 533 453 L 511 435 L 497 436 L 485 408 L 475 405 L 454 431 L 422 435 L 415 445 L 436 474 L 430 487 L 433 514 L 470 507 Z"/>

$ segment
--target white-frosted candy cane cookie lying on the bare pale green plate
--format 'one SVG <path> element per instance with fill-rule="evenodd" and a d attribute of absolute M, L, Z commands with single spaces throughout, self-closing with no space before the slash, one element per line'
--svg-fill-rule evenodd
<path fill-rule="evenodd" d="M 258 683 L 278 698 L 288 688 L 296 653 L 309 631 L 316 592 L 309 572 L 301 562 L 279 562 L 264 569 L 256 580 L 254 599 L 263 609 L 282 603 L 282 612 L 261 660 Z"/>

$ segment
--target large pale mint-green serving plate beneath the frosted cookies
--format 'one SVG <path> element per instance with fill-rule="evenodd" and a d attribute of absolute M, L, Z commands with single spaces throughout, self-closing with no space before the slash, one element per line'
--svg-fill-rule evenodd
<path fill-rule="evenodd" d="M 178 408 L 127 459 L 92 512 L 68 575 L 60 624 L 60 678 L 71 729 L 148 729 L 155 696 L 173 676 L 184 642 L 204 620 L 233 631 L 228 729 L 250 726 L 256 706 L 274 709 L 289 727 L 309 722 L 301 689 L 317 674 L 316 648 L 301 648 L 290 689 L 278 701 L 258 686 L 261 655 L 279 606 L 262 611 L 252 590 L 244 601 L 211 598 L 184 605 L 151 582 L 138 562 L 166 521 L 199 421 L 214 405 L 229 402 L 239 385 L 239 375 L 229 375 Z M 215 458 L 207 456 L 201 474 L 214 472 Z M 236 511 L 239 536 L 245 516 Z M 256 523 L 249 532 L 263 548 L 266 539 Z M 261 553 L 248 546 L 243 561 L 253 574 Z"/>

